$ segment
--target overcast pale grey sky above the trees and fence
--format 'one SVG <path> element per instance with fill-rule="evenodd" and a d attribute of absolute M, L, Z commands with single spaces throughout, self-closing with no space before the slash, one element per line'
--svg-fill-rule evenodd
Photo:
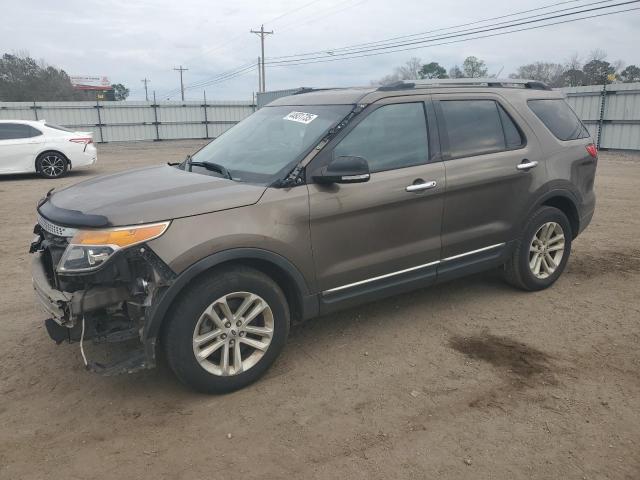
<path fill-rule="evenodd" d="M 582 0 L 552 10 L 592 3 Z M 620 0 L 622 1 L 622 0 Z M 248 62 L 257 62 L 259 39 L 250 29 L 265 24 L 266 56 L 282 56 L 384 40 L 496 17 L 558 0 L 2 0 L 0 46 L 27 51 L 70 75 L 106 75 L 144 99 L 141 79 L 151 79 L 159 98 Z M 599 2 L 605 4 L 606 2 Z M 613 2 L 617 3 L 617 2 Z M 594 6 L 599 6 L 594 5 Z M 629 8 L 640 6 L 628 5 Z M 540 12 L 533 12 L 540 13 Z M 596 13 L 596 12 L 594 12 Z M 467 27 L 469 28 L 469 27 Z M 608 60 L 640 65 L 640 11 L 506 36 L 432 46 L 368 58 L 267 69 L 267 90 L 298 86 L 368 85 L 410 57 L 437 61 L 447 69 L 475 55 L 490 73 L 506 76 L 536 60 L 564 62 L 603 49 Z M 255 70 L 206 87 L 208 99 L 250 99 Z M 187 91 L 201 98 L 202 88 Z M 175 92 L 171 97 L 179 98 Z"/>

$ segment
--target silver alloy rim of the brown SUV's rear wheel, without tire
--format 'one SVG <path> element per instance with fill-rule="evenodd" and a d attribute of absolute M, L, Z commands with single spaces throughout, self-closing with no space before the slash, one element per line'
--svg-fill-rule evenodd
<path fill-rule="evenodd" d="M 565 249 L 564 231 L 556 222 L 544 223 L 529 246 L 529 268 L 536 278 L 545 279 L 557 270 Z"/>

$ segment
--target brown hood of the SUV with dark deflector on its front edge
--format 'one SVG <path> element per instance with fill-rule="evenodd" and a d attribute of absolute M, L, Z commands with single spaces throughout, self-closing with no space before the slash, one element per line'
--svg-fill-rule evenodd
<path fill-rule="evenodd" d="M 159 166 L 96 177 L 51 193 L 38 210 L 67 226 L 123 226 L 256 203 L 266 187 Z"/>

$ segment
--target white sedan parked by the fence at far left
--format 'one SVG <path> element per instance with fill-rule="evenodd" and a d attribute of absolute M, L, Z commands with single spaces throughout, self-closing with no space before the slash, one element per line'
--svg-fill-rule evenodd
<path fill-rule="evenodd" d="M 91 132 L 74 132 L 44 120 L 0 120 L 0 175 L 36 172 L 59 178 L 96 160 Z"/>

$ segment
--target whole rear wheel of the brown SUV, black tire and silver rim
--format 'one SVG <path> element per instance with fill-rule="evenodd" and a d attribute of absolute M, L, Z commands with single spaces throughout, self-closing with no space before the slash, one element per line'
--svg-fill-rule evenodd
<path fill-rule="evenodd" d="M 567 216 L 557 208 L 541 207 L 516 241 L 511 259 L 504 266 L 505 280 L 528 291 L 550 287 L 567 265 L 571 239 Z"/>

